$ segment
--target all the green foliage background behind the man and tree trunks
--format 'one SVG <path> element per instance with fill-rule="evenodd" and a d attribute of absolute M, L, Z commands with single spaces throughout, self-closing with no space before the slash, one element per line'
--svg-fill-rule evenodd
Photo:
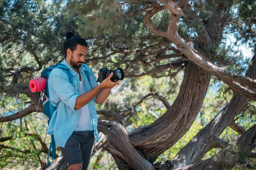
<path fill-rule="evenodd" d="M 33 52 L 38 56 L 43 65 L 61 62 L 63 59 L 62 45 L 65 34 L 73 31 L 84 37 L 89 44 L 88 58 L 99 58 L 86 61 L 94 73 L 99 68 L 116 68 L 123 60 L 120 67 L 125 74 L 141 74 L 159 68 L 184 56 L 157 59 L 159 56 L 176 54 L 167 50 L 158 53 L 161 49 L 174 45 L 164 37 L 159 37 L 145 26 L 143 19 L 145 13 L 152 9 L 156 0 L 120 1 L 120 0 L 55 0 L 53 5 L 46 6 L 44 0 L 1 0 L 0 1 L 0 97 L 1 116 L 21 111 L 29 106 L 30 99 L 24 94 L 18 94 L 15 89 L 8 87 L 12 76 L 20 67 L 38 68 Z M 194 0 L 189 1 L 187 11 L 180 18 L 178 33 L 186 42 L 204 41 L 205 24 L 216 15 L 216 7 L 223 3 L 222 0 Z M 160 4 L 162 5 L 162 4 Z M 247 43 L 250 47 L 255 45 L 255 2 L 253 0 L 232 1 L 231 12 L 221 12 L 219 17 L 224 17 L 226 23 L 224 33 L 236 37 L 236 45 Z M 169 11 L 158 12 L 151 18 L 152 23 L 161 31 L 167 31 L 169 26 Z M 244 75 L 248 67 L 248 59 L 240 51 L 234 50 L 232 45 L 227 45 L 225 34 L 221 42 L 212 45 L 200 46 L 197 49 L 211 59 L 219 67 L 227 71 Z M 214 38 L 214 37 L 211 37 Z M 145 50 L 146 49 L 146 50 Z M 136 50 L 144 50 L 135 52 Z M 111 57 L 105 57 L 114 51 Z M 104 59 L 102 59 L 104 58 Z M 186 67 L 185 67 L 186 68 Z M 40 76 L 40 71 L 26 71 L 20 74 L 18 83 L 28 85 L 29 80 Z M 122 113 L 128 122 L 127 130 L 131 132 L 139 126 L 150 125 L 166 112 L 162 102 L 152 96 L 140 101 L 147 94 L 159 94 L 167 99 L 170 105 L 175 101 L 184 72 L 180 71 L 175 78 L 167 75 L 174 70 L 166 69 L 154 74 L 139 78 L 124 79 L 119 88 L 112 90 L 111 96 L 104 105 L 97 105 L 97 109 L 108 109 Z M 214 76 L 212 78 L 215 78 Z M 9 91 L 9 93 L 6 93 Z M 184 147 L 193 136 L 205 127 L 214 116 L 230 101 L 233 91 L 219 80 L 212 79 L 198 117 L 188 132 L 172 148 L 159 156 L 157 161 L 172 160 L 177 152 Z M 236 117 L 236 122 L 248 129 L 256 124 L 256 103 L 250 102 L 243 112 Z M 41 152 L 42 144 L 36 135 L 49 146 L 47 132 L 47 119 L 41 113 L 31 113 L 28 116 L 12 122 L 0 123 L 0 137 L 13 136 L 12 140 L 1 142 L 9 148 L 4 148 L 0 153 L 0 169 L 35 169 L 40 162 L 44 162 L 47 154 Z M 231 128 L 221 133 L 220 138 L 233 142 L 238 134 Z M 220 149 L 210 150 L 203 159 L 218 153 Z M 60 152 L 58 151 L 60 155 Z M 254 159 L 250 163 L 254 166 Z M 92 159 L 90 168 L 94 166 Z M 106 163 L 107 162 L 107 163 Z M 106 163 L 106 164 L 105 164 Z M 239 164 L 234 169 L 244 166 Z M 113 158 L 105 154 L 98 169 L 116 168 Z"/>

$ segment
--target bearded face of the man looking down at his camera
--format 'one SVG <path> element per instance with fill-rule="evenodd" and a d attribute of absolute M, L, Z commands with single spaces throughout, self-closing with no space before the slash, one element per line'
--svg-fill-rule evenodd
<path fill-rule="evenodd" d="M 71 56 L 69 57 L 70 65 L 73 68 L 80 68 L 84 63 L 84 58 L 87 55 L 88 47 L 77 45 L 76 50 L 72 51 Z"/>

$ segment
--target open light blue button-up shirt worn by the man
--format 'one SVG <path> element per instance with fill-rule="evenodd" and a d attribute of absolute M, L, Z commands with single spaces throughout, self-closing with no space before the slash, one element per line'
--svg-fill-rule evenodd
<path fill-rule="evenodd" d="M 49 122 L 48 131 L 49 135 L 54 135 L 55 143 L 59 147 L 65 147 L 67 139 L 71 136 L 76 128 L 80 116 L 80 110 L 75 109 L 76 98 L 79 96 L 79 74 L 68 65 L 64 59 L 62 64 L 66 65 L 71 73 L 74 75 L 73 83 L 71 84 L 67 74 L 60 68 L 54 68 L 49 74 L 49 99 L 53 106 L 57 107 Z M 84 65 L 84 66 L 83 66 Z M 93 74 L 91 68 L 83 64 L 79 68 L 81 79 L 84 83 L 84 91 L 90 91 L 95 88 L 98 83 L 96 76 Z M 84 68 L 89 72 L 89 81 L 84 73 Z M 88 108 L 93 119 L 93 130 L 95 140 L 99 140 L 97 132 L 97 113 L 94 102 L 96 98 L 88 103 Z M 85 122 L 86 123 L 86 122 Z"/>

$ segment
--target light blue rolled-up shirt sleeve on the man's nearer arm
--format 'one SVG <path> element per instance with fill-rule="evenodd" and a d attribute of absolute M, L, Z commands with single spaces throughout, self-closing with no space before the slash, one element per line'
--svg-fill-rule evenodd
<path fill-rule="evenodd" d="M 79 96 L 79 92 L 73 84 L 70 83 L 67 74 L 65 74 L 61 69 L 55 68 L 49 75 L 48 83 L 49 88 L 52 88 L 52 90 L 55 91 L 61 101 L 73 111 L 76 111 L 76 98 Z"/>

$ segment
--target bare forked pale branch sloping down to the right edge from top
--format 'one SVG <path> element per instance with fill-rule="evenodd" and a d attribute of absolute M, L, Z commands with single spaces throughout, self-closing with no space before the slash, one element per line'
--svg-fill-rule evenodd
<path fill-rule="evenodd" d="M 229 71 L 226 71 L 223 68 L 219 68 L 212 64 L 209 60 L 207 60 L 202 55 L 198 54 L 192 47 L 191 43 L 189 45 L 181 38 L 178 34 L 178 22 L 180 15 L 182 13 L 182 8 L 185 8 L 187 4 L 187 0 L 179 0 L 177 5 L 175 5 L 174 1 L 172 0 L 160 0 L 161 3 L 164 3 L 164 6 L 169 9 L 170 11 L 170 20 L 169 20 L 169 27 L 168 27 L 168 34 L 162 31 L 158 31 L 151 22 L 151 17 L 156 14 L 159 10 L 157 8 L 152 9 L 148 12 L 144 17 L 144 23 L 148 28 L 151 29 L 155 34 L 163 36 L 174 42 L 177 48 L 186 55 L 192 62 L 197 64 L 199 67 L 203 68 L 205 71 L 212 73 L 221 79 L 226 79 L 228 81 L 235 81 L 239 82 L 240 84 L 247 85 L 250 87 L 256 86 L 256 79 L 250 79 L 247 77 L 242 77 L 237 74 L 233 74 Z M 152 15 L 153 14 L 153 15 Z M 145 20 L 147 22 L 145 22 Z"/>

